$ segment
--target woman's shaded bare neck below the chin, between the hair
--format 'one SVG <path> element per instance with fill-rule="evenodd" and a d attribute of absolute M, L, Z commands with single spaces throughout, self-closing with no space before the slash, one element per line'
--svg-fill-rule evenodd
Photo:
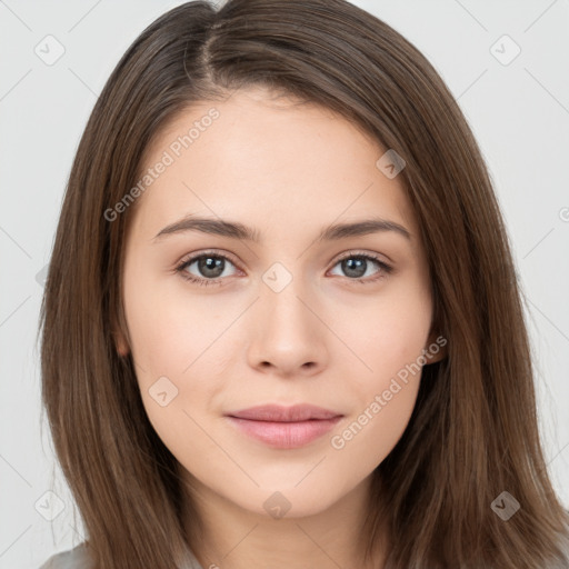
<path fill-rule="evenodd" d="M 274 519 L 241 508 L 193 478 L 190 495 L 200 537 L 190 540 L 192 552 L 203 569 L 381 568 L 382 550 L 372 563 L 363 559 L 370 483 L 371 477 L 318 513 Z"/>

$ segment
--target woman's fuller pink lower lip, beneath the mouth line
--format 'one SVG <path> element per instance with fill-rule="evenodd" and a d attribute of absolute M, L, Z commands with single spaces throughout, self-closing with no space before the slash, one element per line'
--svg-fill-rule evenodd
<path fill-rule="evenodd" d="M 298 422 L 253 421 L 228 417 L 232 425 L 249 437 L 277 449 L 296 449 L 319 439 L 333 429 L 341 417 Z"/>

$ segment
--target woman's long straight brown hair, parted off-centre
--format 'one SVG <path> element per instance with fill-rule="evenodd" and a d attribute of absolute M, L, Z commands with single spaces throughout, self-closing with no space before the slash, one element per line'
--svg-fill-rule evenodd
<path fill-rule="evenodd" d="M 388 24 L 343 0 L 188 2 L 122 57 L 69 177 L 41 309 L 42 401 L 98 568 L 171 569 L 183 526 L 178 462 L 150 425 L 121 298 L 116 208 L 144 150 L 197 101 L 266 86 L 337 111 L 406 161 L 400 172 L 428 256 L 447 357 L 426 366 L 410 422 L 373 472 L 362 528 L 386 569 L 568 567 L 569 519 L 548 477 L 510 244 L 486 164 L 452 94 Z M 116 209 L 114 209 L 116 211 Z M 507 491 L 520 509 L 491 507 Z M 193 536 L 193 537 L 192 537 Z"/>

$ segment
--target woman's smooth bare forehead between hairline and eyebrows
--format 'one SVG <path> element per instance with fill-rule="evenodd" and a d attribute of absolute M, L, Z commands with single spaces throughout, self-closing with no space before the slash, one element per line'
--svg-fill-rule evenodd
<path fill-rule="evenodd" d="M 161 172 L 148 178 L 137 216 L 158 227 L 201 213 L 270 231 L 372 214 L 415 233 L 401 178 L 378 167 L 386 150 L 327 108 L 237 91 L 193 104 L 159 132 L 141 177 Z"/>

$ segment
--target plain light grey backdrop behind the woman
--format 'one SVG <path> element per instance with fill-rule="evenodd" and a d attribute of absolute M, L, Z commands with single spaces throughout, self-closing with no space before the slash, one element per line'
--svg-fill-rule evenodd
<path fill-rule="evenodd" d="M 142 29 L 179 3 L 0 0 L 1 568 L 38 568 L 83 539 L 40 430 L 42 271 L 97 94 Z M 528 298 L 546 456 L 569 507 L 569 0 L 355 3 L 429 58 L 481 146 Z"/>

